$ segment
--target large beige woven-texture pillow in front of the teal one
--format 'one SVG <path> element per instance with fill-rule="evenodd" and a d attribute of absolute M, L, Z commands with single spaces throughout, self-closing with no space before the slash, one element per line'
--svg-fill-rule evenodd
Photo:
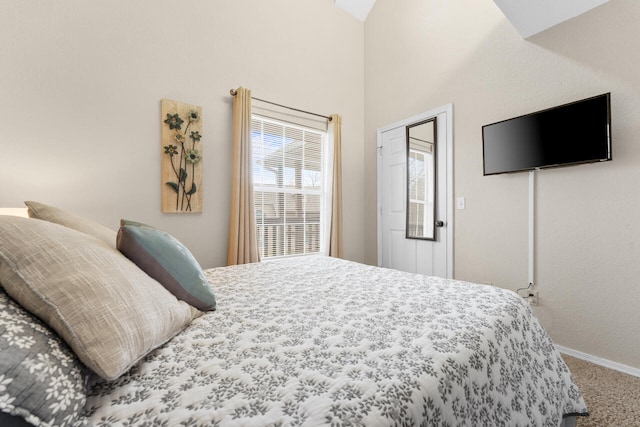
<path fill-rule="evenodd" d="M 0 216 L 0 284 L 107 380 L 200 314 L 95 237 L 28 218 Z"/>

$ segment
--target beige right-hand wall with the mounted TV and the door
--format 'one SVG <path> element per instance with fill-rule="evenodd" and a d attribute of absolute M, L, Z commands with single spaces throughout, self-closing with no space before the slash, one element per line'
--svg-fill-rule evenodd
<path fill-rule="evenodd" d="M 559 345 L 640 368 L 640 2 L 523 40 L 490 0 L 377 0 L 365 24 L 365 258 L 376 129 L 452 102 L 455 276 L 527 284 L 528 174 L 482 176 L 484 124 L 612 93 L 612 162 L 537 174 L 535 309 Z"/>

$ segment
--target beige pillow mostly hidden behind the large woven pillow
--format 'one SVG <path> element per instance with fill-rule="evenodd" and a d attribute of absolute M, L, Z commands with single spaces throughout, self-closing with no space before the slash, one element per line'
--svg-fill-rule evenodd
<path fill-rule="evenodd" d="M 110 246 L 116 246 L 116 232 L 97 222 L 43 203 L 27 201 L 24 202 L 24 204 L 27 205 L 29 218 L 42 219 L 64 225 L 65 227 L 73 228 L 74 230 L 97 237 L 107 242 Z"/>

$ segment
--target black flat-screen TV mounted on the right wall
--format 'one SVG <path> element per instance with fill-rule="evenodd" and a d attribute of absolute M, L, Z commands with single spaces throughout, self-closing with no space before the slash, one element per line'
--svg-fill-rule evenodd
<path fill-rule="evenodd" d="M 482 127 L 484 175 L 611 160 L 610 93 Z"/>

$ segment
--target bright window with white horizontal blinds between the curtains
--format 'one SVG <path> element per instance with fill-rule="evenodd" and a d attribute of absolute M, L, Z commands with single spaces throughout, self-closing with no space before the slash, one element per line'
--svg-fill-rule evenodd
<path fill-rule="evenodd" d="M 253 115 L 251 140 L 261 258 L 321 253 L 327 133 Z"/>

